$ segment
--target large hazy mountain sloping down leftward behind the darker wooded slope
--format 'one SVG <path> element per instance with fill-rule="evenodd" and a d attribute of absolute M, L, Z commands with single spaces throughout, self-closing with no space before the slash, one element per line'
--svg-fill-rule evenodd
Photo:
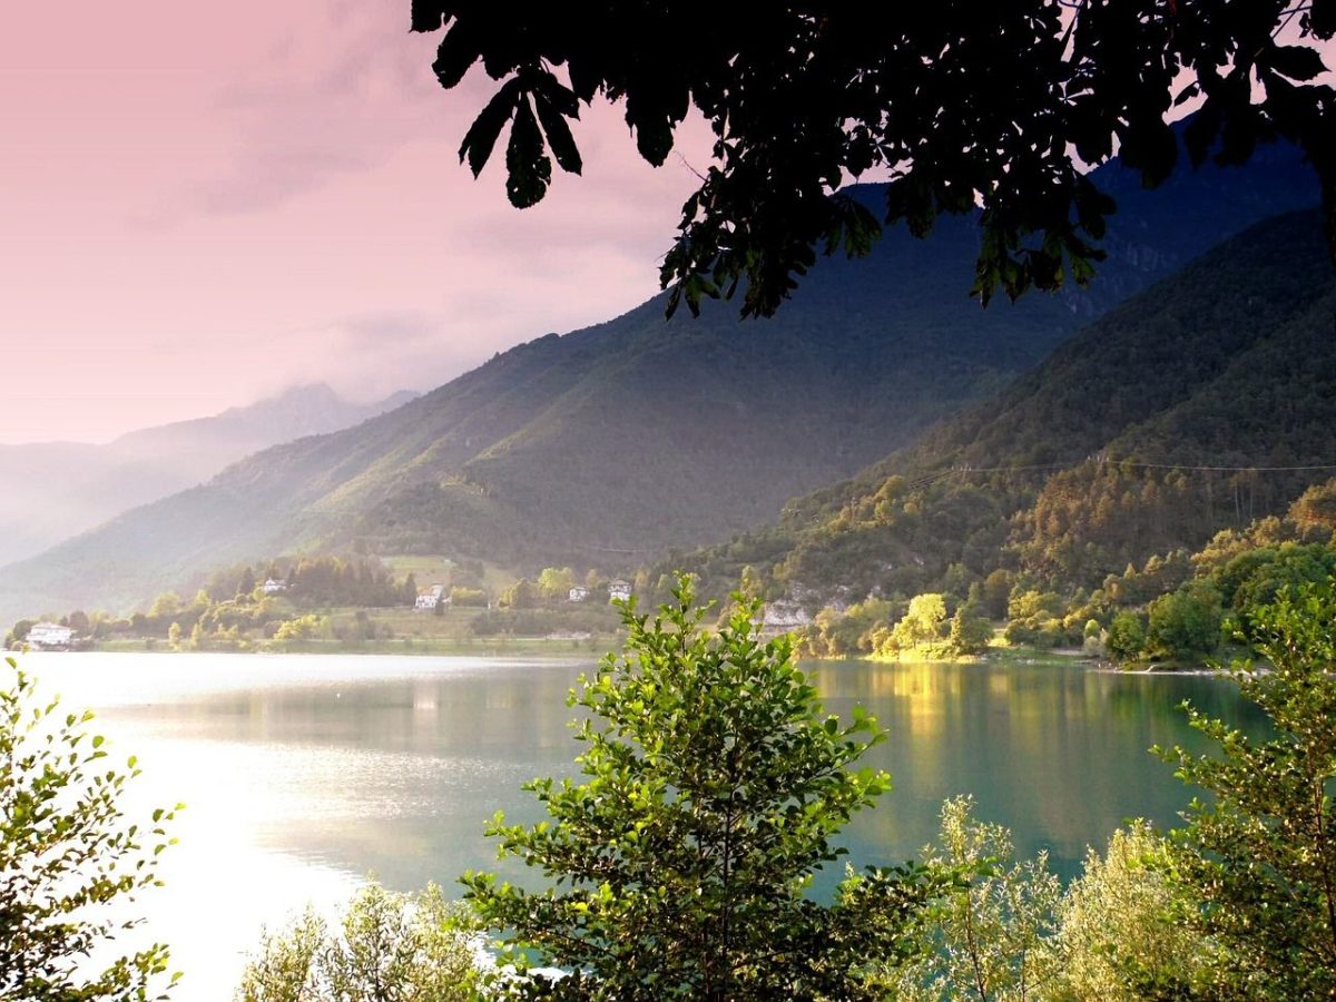
<path fill-rule="evenodd" d="M 1221 231 L 1316 200 L 1284 148 L 1193 176 L 1206 194 L 1118 190 L 1113 253 L 1089 293 L 981 310 L 965 293 L 978 231 L 962 216 L 926 242 L 892 231 L 866 261 L 823 259 L 770 321 L 721 303 L 664 322 L 656 297 L 549 334 L 5 568 L 0 617 L 123 608 L 211 565 L 297 548 L 620 569 L 727 538 L 1005 386 Z"/>

